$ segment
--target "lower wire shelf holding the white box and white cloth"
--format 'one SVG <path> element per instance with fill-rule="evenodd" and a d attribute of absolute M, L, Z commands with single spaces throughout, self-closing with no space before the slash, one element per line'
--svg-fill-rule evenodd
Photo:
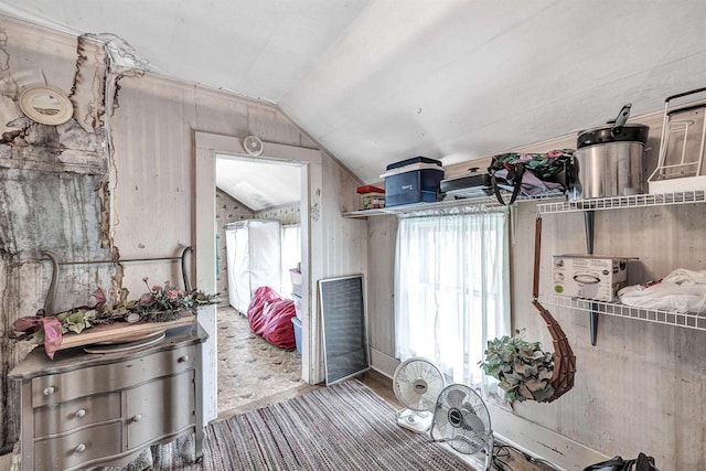
<path fill-rule="evenodd" d="M 593 301 L 590 299 L 570 298 L 567 296 L 539 295 L 539 302 L 559 308 L 576 309 L 585 312 L 637 319 L 659 324 L 706 331 L 706 313 L 663 311 L 657 309 L 635 308 L 620 302 Z"/>

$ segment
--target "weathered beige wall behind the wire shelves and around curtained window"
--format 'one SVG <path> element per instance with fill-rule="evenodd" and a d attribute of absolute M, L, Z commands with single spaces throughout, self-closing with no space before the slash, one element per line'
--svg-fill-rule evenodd
<path fill-rule="evenodd" d="M 635 117 L 651 127 L 645 179 L 656 165 L 662 114 Z M 576 136 L 522 148 L 526 152 L 575 148 Z M 486 162 L 460 163 L 447 176 Z M 511 237 L 512 325 L 552 349 L 552 338 L 531 304 L 536 204 L 513 208 Z M 552 255 L 585 254 L 581 213 L 543 220 L 541 292 L 549 293 Z M 596 212 L 595 254 L 634 256 L 629 282 L 659 279 L 674 268 L 706 269 L 706 205 L 687 204 Z M 375 366 L 389 374 L 394 355 L 393 277 L 395 216 L 368 218 L 371 335 Z M 653 454 L 660 469 L 706 470 L 706 333 L 602 315 L 591 346 L 589 314 L 546 306 L 577 356 L 575 387 L 552 404 L 491 407 L 494 430 L 569 470 L 581 470 L 598 451 L 611 457 Z M 507 419 L 507 411 L 511 418 Z"/>

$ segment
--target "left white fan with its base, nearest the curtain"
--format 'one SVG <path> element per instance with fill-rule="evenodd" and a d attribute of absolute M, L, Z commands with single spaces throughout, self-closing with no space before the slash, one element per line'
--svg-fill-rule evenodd
<path fill-rule="evenodd" d="M 402 362 L 393 376 L 395 396 L 404 407 L 397 411 L 397 424 L 419 433 L 429 431 L 443 386 L 441 371 L 430 361 L 415 356 Z"/>

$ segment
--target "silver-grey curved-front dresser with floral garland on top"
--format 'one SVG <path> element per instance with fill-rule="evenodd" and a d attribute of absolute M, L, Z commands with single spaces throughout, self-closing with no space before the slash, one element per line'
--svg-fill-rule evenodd
<path fill-rule="evenodd" d="M 191 431 L 200 460 L 206 339 L 195 323 L 129 353 L 35 349 L 8 375 L 22 382 L 22 471 L 122 465 Z"/>

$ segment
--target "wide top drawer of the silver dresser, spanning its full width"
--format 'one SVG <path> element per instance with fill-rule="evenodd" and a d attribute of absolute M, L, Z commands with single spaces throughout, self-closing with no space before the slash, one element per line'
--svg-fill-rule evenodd
<path fill-rule="evenodd" d="M 32 407 L 137 386 L 194 368 L 195 346 L 154 352 L 125 362 L 90 366 L 32 379 Z"/>

